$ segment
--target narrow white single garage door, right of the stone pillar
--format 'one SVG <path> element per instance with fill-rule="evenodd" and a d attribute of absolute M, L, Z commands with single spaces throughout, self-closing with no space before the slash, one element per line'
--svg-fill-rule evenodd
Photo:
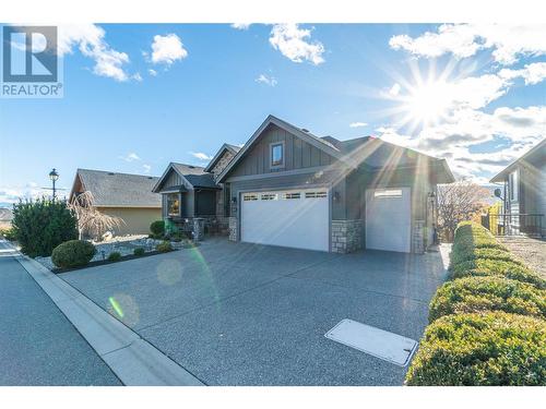
<path fill-rule="evenodd" d="M 366 191 L 366 248 L 410 252 L 411 189 Z"/>

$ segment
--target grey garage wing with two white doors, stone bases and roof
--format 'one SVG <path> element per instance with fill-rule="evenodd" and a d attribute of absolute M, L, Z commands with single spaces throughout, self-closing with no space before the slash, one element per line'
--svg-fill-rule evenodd
<path fill-rule="evenodd" d="M 454 179 L 444 159 L 269 116 L 215 181 L 229 194 L 230 240 L 419 253 L 434 239 L 436 187 Z"/>

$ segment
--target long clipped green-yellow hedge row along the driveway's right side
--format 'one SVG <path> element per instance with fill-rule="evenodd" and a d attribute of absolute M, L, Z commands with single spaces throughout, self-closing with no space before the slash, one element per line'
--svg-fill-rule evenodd
<path fill-rule="evenodd" d="M 473 222 L 455 231 L 450 272 L 406 384 L 546 385 L 546 280 Z"/>

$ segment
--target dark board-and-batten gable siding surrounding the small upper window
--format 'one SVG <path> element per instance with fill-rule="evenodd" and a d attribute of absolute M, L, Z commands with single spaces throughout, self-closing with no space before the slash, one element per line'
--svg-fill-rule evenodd
<path fill-rule="evenodd" d="M 283 168 L 272 169 L 270 146 L 272 143 L 277 142 L 284 143 L 285 165 Z M 257 144 L 252 146 L 239 164 L 235 166 L 230 176 L 240 177 L 329 166 L 332 165 L 334 160 L 335 159 L 327 153 L 294 136 L 292 133 L 278 127 L 270 125 L 263 132 Z"/>

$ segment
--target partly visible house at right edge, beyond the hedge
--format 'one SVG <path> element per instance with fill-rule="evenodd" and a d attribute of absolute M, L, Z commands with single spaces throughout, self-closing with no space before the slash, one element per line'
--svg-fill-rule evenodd
<path fill-rule="evenodd" d="M 502 184 L 505 233 L 546 236 L 546 139 L 491 179 Z"/>

